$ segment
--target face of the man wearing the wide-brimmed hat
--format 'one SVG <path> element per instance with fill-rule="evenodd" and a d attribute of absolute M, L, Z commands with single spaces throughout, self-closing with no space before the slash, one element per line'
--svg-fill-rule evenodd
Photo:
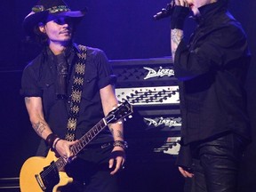
<path fill-rule="evenodd" d="M 50 44 L 66 44 L 72 38 L 73 22 L 66 16 L 49 15 L 39 29 L 48 36 Z"/>

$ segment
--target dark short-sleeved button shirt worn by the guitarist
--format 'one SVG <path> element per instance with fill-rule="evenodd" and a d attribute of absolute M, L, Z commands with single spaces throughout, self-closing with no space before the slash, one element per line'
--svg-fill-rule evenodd
<path fill-rule="evenodd" d="M 68 61 L 68 95 L 71 93 L 74 66 L 79 52 L 76 44 L 66 52 Z M 65 137 L 68 122 L 68 99 L 58 99 L 56 95 L 57 69 L 54 55 L 45 48 L 35 60 L 23 71 L 21 94 L 24 97 L 41 97 L 43 100 L 44 117 L 52 132 L 61 138 Z M 81 138 L 92 126 L 104 117 L 100 100 L 100 89 L 108 84 L 115 84 L 116 76 L 108 64 L 104 52 L 87 47 L 87 59 L 84 74 L 84 89 L 76 125 L 76 139 Z M 108 128 L 94 138 L 91 144 L 113 140 Z"/>

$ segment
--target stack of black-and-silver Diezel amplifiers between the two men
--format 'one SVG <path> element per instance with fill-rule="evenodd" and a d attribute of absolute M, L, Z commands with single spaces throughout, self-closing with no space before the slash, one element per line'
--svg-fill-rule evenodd
<path fill-rule="evenodd" d="M 143 153 L 144 159 L 147 155 L 177 155 L 181 117 L 172 58 L 110 60 L 110 63 L 117 76 L 117 99 L 128 100 L 133 106 L 133 117 L 125 122 L 124 129 L 129 150 L 134 150 L 130 151 L 132 156 L 140 159 Z"/>

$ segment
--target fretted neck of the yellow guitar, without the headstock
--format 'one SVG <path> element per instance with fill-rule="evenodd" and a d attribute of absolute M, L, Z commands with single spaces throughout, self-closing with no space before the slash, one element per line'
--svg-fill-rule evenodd
<path fill-rule="evenodd" d="M 87 144 L 89 144 L 91 140 L 95 138 L 95 136 L 98 135 L 106 126 L 107 122 L 105 118 L 102 118 L 100 122 L 95 124 L 89 132 L 86 132 L 84 136 L 70 148 L 74 156 L 76 156 Z M 66 164 L 68 164 L 68 161 L 62 156 L 55 162 L 55 165 L 59 171 L 61 171 Z"/>

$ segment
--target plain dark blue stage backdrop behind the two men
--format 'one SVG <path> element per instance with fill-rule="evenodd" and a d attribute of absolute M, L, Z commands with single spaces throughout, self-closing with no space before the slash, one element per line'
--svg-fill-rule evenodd
<path fill-rule="evenodd" d="M 77 30 L 76 42 L 104 50 L 109 60 L 170 56 L 169 19 L 159 21 L 152 19 L 153 15 L 169 1 L 69 0 L 67 2 L 73 10 L 88 7 L 88 13 Z M 34 0 L 0 2 L 0 178 L 19 177 L 21 164 L 29 156 L 34 156 L 38 143 L 38 137 L 30 127 L 28 114 L 19 94 L 21 70 L 38 52 L 35 45 L 26 43 L 21 27 L 22 20 L 35 4 Z M 244 26 L 252 50 L 252 66 L 247 90 L 253 140 L 244 155 L 243 177 L 240 179 L 241 191 L 244 192 L 256 191 L 255 10 L 255 0 L 230 0 L 230 12 Z M 188 20 L 185 28 L 186 37 L 194 27 L 194 22 Z M 158 170 L 162 169 L 163 167 Z M 173 176 L 172 172 L 170 175 Z"/>

